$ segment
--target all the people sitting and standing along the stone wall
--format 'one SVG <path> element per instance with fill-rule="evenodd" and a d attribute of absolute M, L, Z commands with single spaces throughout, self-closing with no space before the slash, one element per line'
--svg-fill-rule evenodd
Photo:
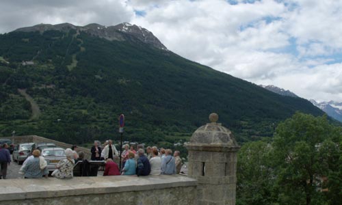
<path fill-rule="evenodd" d="M 121 153 L 122 169 L 119 169 L 118 164 L 115 161 L 119 159 L 118 150 L 114 146 L 111 140 L 106 141 L 105 146 L 101 149 L 97 142 L 94 142 L 94 146 L 91 148 L 91 159 L 93 161 L 105 160 L 105 167 L 103 176 L 114 175 L 159 175 L 159 174 L 179 174 L 181 172 L 181 157 L 180 152 L 176 150 L 172 155 L 170 149 L 157 149 L 154 147 L 147 147 L 146 153 L 141 146 L 137 147 L 135 151 L 134 147 L 124 145 L 124 150 Z M 51 176 L 55 178 L 73 178 L 73 169 L 77 161 L 83 161 L 84 153 L 77 152 L 77 146 L 73 146 L 71 149 L 65 150 L 66 159 L 60 160 L 57 163 L 55 171 Z M 10 152 L 4 144 L 0 148 L 0 163 L 1 172 L 0 178 L 6 178 L 7 165 L 10 164 Z M 20 174 L 23 174 L 24 178 L 42 178 L 49 176 L 49 170 L 47 169 L 47 161 L 44 157 L 40 156 L 40 150 L 34 150 L 32 155 L 29 156 L 21 167 Z"/>

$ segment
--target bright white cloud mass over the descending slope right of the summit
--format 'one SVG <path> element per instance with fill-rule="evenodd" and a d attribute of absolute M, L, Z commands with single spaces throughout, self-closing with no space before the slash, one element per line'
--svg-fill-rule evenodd
<path fill-rule="evenodd" d="M 133 23 L 153 31 L 171 51 L 236 77 L 305 98 L 342 100 L 342 90 L 329 89 L 342 81 L 328 65 L 330 55 L 341 53 L 341 3 L 286 3 L 170 1 L 146 8 Z M 322 83 L 330 79 L 335 83 Z"/>

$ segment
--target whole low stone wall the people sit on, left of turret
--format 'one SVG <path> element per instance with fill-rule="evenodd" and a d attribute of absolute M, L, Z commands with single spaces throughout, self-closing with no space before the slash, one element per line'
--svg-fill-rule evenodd
<path fill-rule="evenodd" d="M 186 176 L 100 176 L 1 180 L 5 204 L 196 204 L 196 180 Z"/>

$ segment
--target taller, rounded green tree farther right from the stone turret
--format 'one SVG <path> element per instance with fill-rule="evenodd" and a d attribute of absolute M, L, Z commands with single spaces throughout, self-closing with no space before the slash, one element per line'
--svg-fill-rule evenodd
<path fill-rule="evenodd" d="M 333 164 L 339 159 L 331 156 L 340 152 L 341 133 L 326 116 L 304 113 L 295 113 L 278 125 L 272 163 L 280 204 L 326 204 L 322 180 L 338 172 Z"/>

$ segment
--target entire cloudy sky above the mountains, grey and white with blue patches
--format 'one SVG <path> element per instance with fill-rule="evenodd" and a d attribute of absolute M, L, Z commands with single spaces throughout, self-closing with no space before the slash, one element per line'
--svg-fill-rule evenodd
<path fill-rule="evenodd" d="M 39 23 L 127 22 L 215 70 L 342 102 L 341 0 L 0 0 L 0 19 L 0 33 Z"/>

